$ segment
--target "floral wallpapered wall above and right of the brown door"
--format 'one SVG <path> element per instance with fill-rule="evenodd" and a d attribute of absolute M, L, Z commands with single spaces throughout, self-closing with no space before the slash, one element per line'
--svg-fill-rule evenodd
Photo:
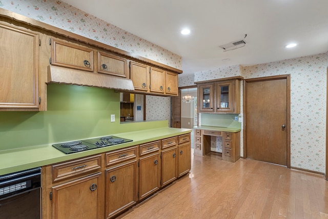
<path fill-rule="evenodd" d="M 327 54 L 242 67 L 246 78 L 291 75 L 291 166 L 325 172 Z"/>

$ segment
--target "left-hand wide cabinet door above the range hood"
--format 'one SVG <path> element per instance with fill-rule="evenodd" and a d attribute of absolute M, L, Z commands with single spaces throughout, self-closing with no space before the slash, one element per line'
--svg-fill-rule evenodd
<path fill-rule="evenodd" d="M 93 50 L 51 39 L 51 65 L 93 71 Z"/>

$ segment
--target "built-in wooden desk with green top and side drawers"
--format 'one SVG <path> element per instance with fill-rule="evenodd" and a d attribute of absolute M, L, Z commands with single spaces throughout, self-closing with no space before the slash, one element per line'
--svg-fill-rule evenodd
<path fill-rule="evenodd" d="M 194 154 L 204 156 L 211 152 L 211 136 L 222 138 L 222 160 L 236 162 L 240 158 L 240 129 L 197 126 L 194 127 Z"/>

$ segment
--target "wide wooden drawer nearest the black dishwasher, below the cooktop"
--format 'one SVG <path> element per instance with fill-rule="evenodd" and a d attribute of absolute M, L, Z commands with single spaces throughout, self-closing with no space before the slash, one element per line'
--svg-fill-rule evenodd
<path fill-rule="evenodd" d="M 75 161 L 52 165 L 52 181 L 67 180 L 78 175 L 101 169 L 101 155 L 81 158 Z"/>

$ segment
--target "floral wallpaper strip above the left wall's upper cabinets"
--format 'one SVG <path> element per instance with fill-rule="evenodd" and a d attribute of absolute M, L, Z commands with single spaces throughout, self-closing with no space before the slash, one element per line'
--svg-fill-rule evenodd
<path fill-rule="evenodd" d="M 149 58 L 158 63 L 182 69 L 181 56 L 65 2 L 56 0 L 0 0 L 0 8 Z"/>

